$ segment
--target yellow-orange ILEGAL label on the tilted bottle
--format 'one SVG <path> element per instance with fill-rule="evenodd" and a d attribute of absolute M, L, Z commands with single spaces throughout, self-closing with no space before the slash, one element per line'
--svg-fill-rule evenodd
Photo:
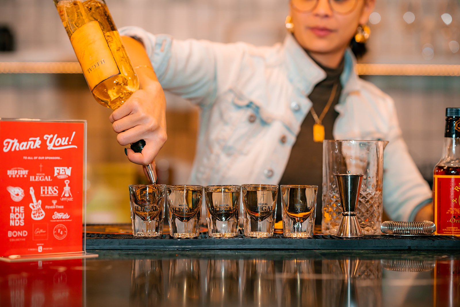
<path fill-rule="evenodd" d="M 70 41 L 91 91 L 102 81 L 120 74 L 97 20 L 78 28 L 70 36 Z"/>

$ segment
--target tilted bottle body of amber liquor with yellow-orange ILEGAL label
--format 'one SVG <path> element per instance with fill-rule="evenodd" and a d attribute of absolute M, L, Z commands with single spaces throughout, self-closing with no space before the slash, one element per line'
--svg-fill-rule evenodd
<path fill-rule="evenodd" d="M 117 109 L 139 82 L 107 6 L 102 0 L 54 3 L 94 98 Z"/>

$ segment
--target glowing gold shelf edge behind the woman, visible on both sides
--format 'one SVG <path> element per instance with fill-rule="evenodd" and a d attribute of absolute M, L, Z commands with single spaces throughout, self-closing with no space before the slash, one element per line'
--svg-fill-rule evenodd
<path fill-rule="evenodd" d="M 460 65 L 357 64 L 358 75 L 460 76 Z M 78 62 L 0 62 L 0 74 L 81 74 Z"/>

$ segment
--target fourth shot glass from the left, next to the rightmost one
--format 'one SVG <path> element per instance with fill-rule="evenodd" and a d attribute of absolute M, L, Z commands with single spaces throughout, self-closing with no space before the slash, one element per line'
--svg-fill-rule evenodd
<path fill-rule="evenodd" d="M 244 235 L 271 237 L 275 229 L 277 185 L 242 185 Z"/>

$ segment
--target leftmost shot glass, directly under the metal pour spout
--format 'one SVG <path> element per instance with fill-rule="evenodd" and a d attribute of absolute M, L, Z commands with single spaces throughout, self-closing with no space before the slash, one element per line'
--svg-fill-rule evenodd
<path fill-rule="evenodd" d="M 130 185 L 132 235 L 158 237 L 163 234 L 166 185 Z"/>

